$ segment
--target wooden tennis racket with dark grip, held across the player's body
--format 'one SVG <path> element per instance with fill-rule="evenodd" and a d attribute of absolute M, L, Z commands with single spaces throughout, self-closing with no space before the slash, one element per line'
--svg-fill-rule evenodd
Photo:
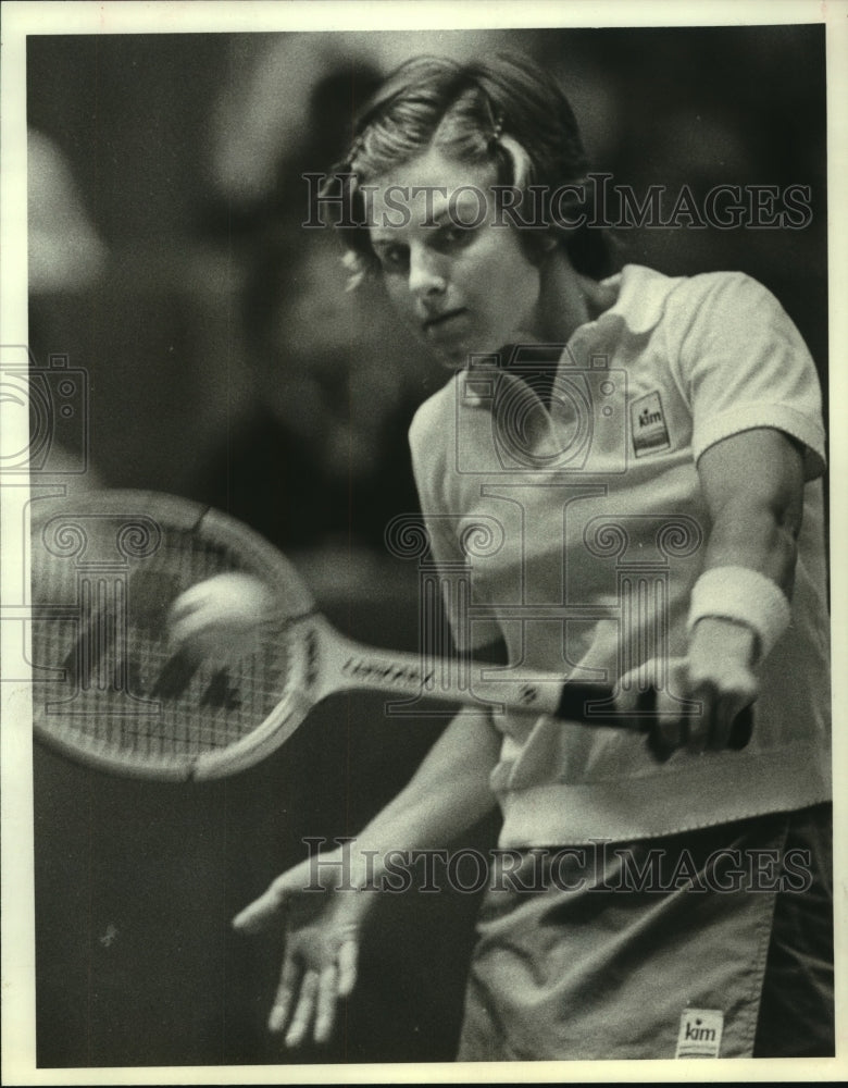
<path fill-rule="evenodd" d="M 32 561 L 34 731 L 101 770 L 234 774 L 283 744 L 321 700 L 350 689 L 624 724 L 607 713 L 603 685 L 491 679 L 497 666 L 488 680 L 475 666 L 472 681 L 444 662 L 351 641 L 271 544 L 183 499 L 116 491 L 38 500 Z M 175 602 L 222 576 L 264 588 L 250 645 L 205 655 L 174 645 Z"/>

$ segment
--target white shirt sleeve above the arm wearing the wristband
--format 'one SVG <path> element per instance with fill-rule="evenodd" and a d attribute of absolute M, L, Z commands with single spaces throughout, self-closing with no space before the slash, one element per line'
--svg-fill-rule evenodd
<path fill-rule="evenodd" d="M 690 284 L 702 294 L 688 302 L 691 317 L 677 358 L 696 461 L 722 438 L 765 426 L 802 444 L 808 480 L 821 475 L 819 378 L 793 321 L 771 292 L 741 273 L 713 273 Z"/>

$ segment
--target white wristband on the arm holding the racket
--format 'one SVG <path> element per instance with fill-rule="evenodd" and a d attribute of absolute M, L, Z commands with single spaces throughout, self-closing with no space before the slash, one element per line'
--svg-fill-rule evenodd
<path fill-rule="evenodd" d="M 757 635 L 757 657 L 762 660 L 788 628 L 791 607 L 780 585 L 759 570 L 711 567 L 693 588 L 688 630 L 707 616 L 749 627 Z"/>

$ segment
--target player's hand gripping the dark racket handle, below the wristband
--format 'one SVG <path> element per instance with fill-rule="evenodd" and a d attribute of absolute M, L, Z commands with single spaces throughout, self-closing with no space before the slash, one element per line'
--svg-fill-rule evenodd
<path fill-rule="evenodd" d="M 622 677 L 619 703 L 634 712 L 657 759 L 679 749 L 701 753 L 747 743 L 759 693 L 756 650 L 748 628 L 708 617 L 695 626 L 685 657 L 652 659 Z"/>

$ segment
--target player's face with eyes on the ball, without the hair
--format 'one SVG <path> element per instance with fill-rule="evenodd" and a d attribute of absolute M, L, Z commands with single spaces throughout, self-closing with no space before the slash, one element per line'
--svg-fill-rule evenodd
<path fill-rule="evenodd" d="M 389 298 L 450 368 L 538 331 L 539 269 L 515 227 L 497 223 L 495 182 L 494 169 L 431 148 L 381 177 L 370 199 Z"/>

